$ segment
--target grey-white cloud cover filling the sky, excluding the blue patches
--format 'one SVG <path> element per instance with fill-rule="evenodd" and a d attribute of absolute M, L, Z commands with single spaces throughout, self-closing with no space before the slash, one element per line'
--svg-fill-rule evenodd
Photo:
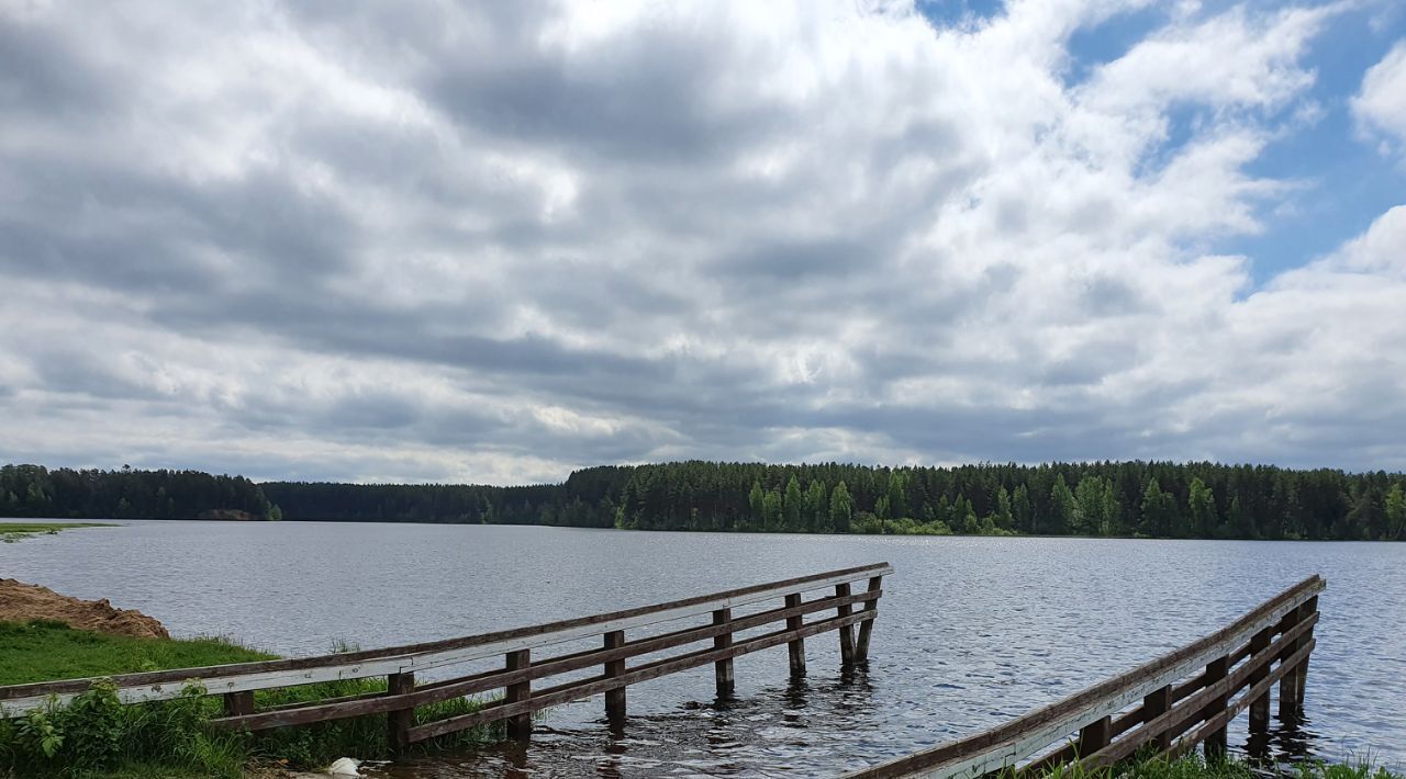
<path fill-rule="evenodd" d="M 1182 194 L 1094 159 L 1090 116 L 1069 112 L 1098 83 L 1026 105 L 1000 35 L 911 20 L 922 35 L 883 59 L 863 60 L 887 45 L 872 29 L 820 62 L 845 42 L 801 45 L 837 35 L 824 18 L 749 36 L 661 6 L 558 46 L 551 4 L 217 8 L 162 7 L 169 29 L 136 38 L 97 11 L 0 14 L 0 282 L 46 291 L 0 310 L 0 414 L 25 442 L 0 459 L 411 481 L 754 455 L 1406 466 L 1392 334 L 1371 335 L 1384 372 L 1355 366 L 1331 413 L 1267 421 L 1253 390 L 1294 386 L 1279 358 L 1322 341 L 1277 340 L 1298 326 L 1257 313 L 1272 288 L 1173 299 L 1163 281 L 1195 254 L 1159 209 Z M 193 63 L 181 39 L 209 25 L 229 44 Z M 960 56 L 922 56 L 953 41 Z M 260 79 L 246 51 L 271 52 Z M 787 53 L 814 83 L 761 88 Z M 949 90 L 963 80 L 983 97 Z M 190 138 L 229 159 L 204 170 L 159 143 Z M 772 152 L 776 175 L 745 173 Z M 558 180 L 571 197 L 548 215 Z M 1071 282 L 1036 281 L 1052 236 L 1087 260 Z M 1168 316 L 1184 306 L 1201 307 Z M 1234 312 L 1260 319 L 1232 331 Z M 1050 348 L 1078 324 L 1099 334 Z M 1149 347 L 1184 342 L 1202 348 Z M 1202 369 L 1236 349 L 1265 358 Z M 193 378 L 141 380 L 166 369 Z M 290 451 L 249 453 L 270 439 Z"/>

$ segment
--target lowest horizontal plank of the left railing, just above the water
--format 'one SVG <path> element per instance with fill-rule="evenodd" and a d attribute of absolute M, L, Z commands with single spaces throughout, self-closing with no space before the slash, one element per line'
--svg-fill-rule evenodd
<path fill-rule="evenodd" d="M 823 622 L 814 622 L 806 625 L 799 630 L 780 630 L 776 633 L 768 633 L 765 636 L 756 636 L 745 641 L 738 641 L 724 648 L 699 650 L 686 654 L 683 657 L 661 660 L 658 663 L 641 665 L 638 668 L 626 671 L 619 677 L 610 677 L 610 678 L 595 677 L 583 682 L 569 682 L 557 688 L 544 689 L 540 693 L 533 695 L 527 700 L 520 700 L 516 703 L 496 703 L 485 706 L 484 709 L 472 714 L 461 714 L 458 717 L 450 717 L 433 723 L 425 723 L 422 726 L 412 727 L 408 735 L 412 743 L 423 741 L 426 738 L 433 738 L 436 735 L 443 735 L 446 733 L 465 730 L 478 724 L 496 721 L 516 714 L 527 714 L 540 709 L 546 709 L 548 706 L 560 706 L 562 703 L 569 703 L 572 700 L 579 700 L 582 698 L 591 698 L 592 695 L 600 695 L 603 692 L 617 689 L 626 685 L 657 679 L 659 677 L 673 674 L 678 671 L 688 671 L 689 668 L 709 665 L 718 660 L 727 660 L 731 657 L 737 657 L 740 654 L 761 651 L 763 648 L 776 647 L 787 641 L 793 641 L 796 639 L 817 636 L 828 630 L 838 630 L 839 627 L 848 625 L 855 625 L 866 619 L 873 619 L 875 613 L 876 613 L 875 611 L 866 611 L 849 616 L 830 618 Z"/>

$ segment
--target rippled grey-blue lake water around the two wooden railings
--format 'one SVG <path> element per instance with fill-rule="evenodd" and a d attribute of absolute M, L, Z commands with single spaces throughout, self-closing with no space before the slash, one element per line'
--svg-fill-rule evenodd
<path fill-rule="evenodd" d="M 981 730 L 1220 627 L 1319 573 L 1303 723 L 1274 748 L 1406 766 L 1406 545 L 650 533 L 391 524 L 124 522 L 0 545 L 0 577 L 284 655 L 481 633 L 890 561 L 868 671 L 838 640 L 631 686 L 538 720 L 527 747 L 396 776 L 834 775 Z M 1244 717 L 1232 745 L 1244 743 Z"/>

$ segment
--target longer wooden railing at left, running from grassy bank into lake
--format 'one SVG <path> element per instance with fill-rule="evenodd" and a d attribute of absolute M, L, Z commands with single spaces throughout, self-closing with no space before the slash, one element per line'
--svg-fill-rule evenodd
<path fill-rule="evenodd" d="M 893 567 L 879 563 L 463 639 L 295 660 L 124 674 L 114 677 L 112 682 L 124 703 L 173 699 L 181 695 L 186 685 L 198 682 L 207 693 L 224 695 L 225 716 L 214 720 L 214 724 L 229 730 L 254 731 L 387 713 L 391 744 L 395 747 L 499 720 L 508 720 L 510 735 L 524 737 L 531 730 L 533 712 L 605 693 L 606 713 L 621 717 L 626 713 L 627 685 L 702 665 L 714 665 L 718 695 L 730 695 L 734 686 L 733 658 L 768 647 L 786 644 L 792 672 L 804 674 L 804 640 L 830 630 L 839 633 L 842 664 L 862 661 L 869 654 L 869 636 L 879 615 L 879 597 L 883 594 L 880 585 L 890 573 Z M 853 582 L 863 582 L 865 590 L 851 592 Z M 804 599 L 806 594 L 827 588 L 834 588 L 832 594 Z M 756 613 L 733 615 L 734 608 L 772 599 L 783 604 Z M 859 611 L 855 611 L 856 606 Z M 834 616 L 806 622 L 806 615 L 820 612 L 834 612 Z M 706 625 L 682 626 L 633 640 L 626 637 L 626 630 L 630 629 L 703 616 L 707 618 Z M 735 636 L 775 623 L 785 626 L 756 636 Z M 533 654 L 544 647 L 592 636 L 600 639 L 602 648 L 543 658 Z M 630 658 L 707 640 L 711 640 L 711 646 L 628 665 Z M 418 672 L 495 655 L 505 658 L 501 670 L 416 685 Z M 537 679 L 593 667 L 600 668 L 600 674 L 543 689 L 533 688 Z M 254 691 L 373 677 L 387 678 L 385 692 L 269 710 L 254 707 Z M 51 699 L 66 702 L 86 692 L 93 681 L 65 679 L 0 686 L 0 716 L 15 717 L 45 706 Z M 416 706 L 495 689 L 503 691 L 502 699 L 478 712 L 413 724 Z"/>

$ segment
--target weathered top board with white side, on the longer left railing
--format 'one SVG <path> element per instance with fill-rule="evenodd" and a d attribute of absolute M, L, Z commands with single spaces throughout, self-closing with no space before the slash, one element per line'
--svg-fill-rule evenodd
<path fill-rule="evenodd" d="M 243 692 L 295 686 L 337 679 L 360 679 L 388 674 L 426 671 L 441 665 L 467 663 L 543 646 L 560 644 L 576 639 L 599 636 L 612 630 L 641 627 L 671 622 L 689 616 L 711 613 L 716 609 L 737 608 L 758 601 L 780 598 L 794 592 L 810 592 L 893 573 L 889 563 L 875 563 L 853 568 L 841 568 L 820 574 L 794 577 L 766 584 L 740 587 L 710 595 L 699 595 L 638 606 L 616 612 L 598 613 L 498 630 L 460 639 L 444 639 L 380 650 L 361 650 L 343 654 L 325 654 L 291 660 L 267 660 L 208 665 L 200 668 L 177 668 L 141 674 L 111 677 L 118 686 L 118 698 L 124 703 L 146 700 L 169 700 L 179 698 L 187 682 L 204 685 L 207 693 Z M 30 709 L 44 706 L 49 696 L 60 703 L 83 693 L 96 678 L 60 679 L 28 685 L 0 686 L 0 717 L 15 717 Z"/>

